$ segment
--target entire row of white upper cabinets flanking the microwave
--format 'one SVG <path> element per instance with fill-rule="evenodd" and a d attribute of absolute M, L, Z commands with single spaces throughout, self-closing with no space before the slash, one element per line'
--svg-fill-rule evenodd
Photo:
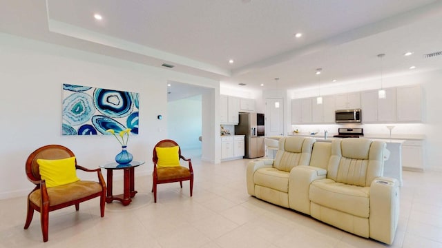
<path fill-rule="evenodd" d="M 410 123 L 422 121 L 420 85 L 385 89 L 385 99 L 378 99 L 378 90 L 291 100 L 291 124 L 335 123 L 335 110 L 361 109 L 363 123 Z"/>

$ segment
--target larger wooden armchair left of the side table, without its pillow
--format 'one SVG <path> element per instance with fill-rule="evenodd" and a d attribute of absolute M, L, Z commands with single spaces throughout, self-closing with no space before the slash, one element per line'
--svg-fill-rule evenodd
<path fill-rule="evenodd" d="M 28 195 L 28 214 L 26 216 L 26 223 L 24 229 L 28 229 L 32 216 L 34 216 L 34 210 L 40 212 L 41 232 L 43 234 L 43 241 L 48 241 L 48 225 L 49 225 L 49 212 L 70 205 L 75 205 L 75 210 L 79 210 L 79 203 L 86 200 L 90 200 L 95 197 L 100 197 L 100 211 L 101 216 L 104 216 L 104 206 L 106 199 L 106 183 L 102 176 L 101 169 L 86 169 L 77 165 L 77 160 L 70 149 L 61 145 L 46 145 L 36 149 L 32 152 L 26 161 L 26 175 L 31 183 L 35 184 L 35 188 Z M 72 158 L 73 174 L 76 177 L 75 170 L 81 169 L 84 172 L 95 172 L 98 176 L 98 182 L 88 180 L 78 180 L 73 183 L 67 183 L 64 185 L 48 185 L 47 180 L 42 179 L 40 175 L 40 169 L 50 171 L 48 167 L 41 167 L 39 163 L 41 160 L 48 160 L 48 163 L 54 163 L 51 161 L 59 161 L 63 159 Z M 37 162 L 37 160 L 39 160 Z M 65 163 L 66 164 L 66 163 Z M 64 165 L 63 165 L 64 166 Z M 73 167 L 72 166 L 72 167 Z M 52 172 L 57 171 L 59 167 L 52 167 Z M 43 172 L 43 171 L 42 171 Z M 52 187 L 50 187 L 52 186 Z"/>

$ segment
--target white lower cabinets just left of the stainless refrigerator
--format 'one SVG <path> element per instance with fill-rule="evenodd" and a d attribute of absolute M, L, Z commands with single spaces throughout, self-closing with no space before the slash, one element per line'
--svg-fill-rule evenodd
<path fill-rule="evenodd" d="M 221 160 L 228 161 L 244 156 L 244 135 L 221 137 Z"/>

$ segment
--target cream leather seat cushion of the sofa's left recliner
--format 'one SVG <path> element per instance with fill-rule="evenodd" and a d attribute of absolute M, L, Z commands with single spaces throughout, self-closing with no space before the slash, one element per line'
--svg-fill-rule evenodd
<path fill-rule="evenodd" d="M 275 168 L 261 168 L 253 175 L 253 182 L 256 185 L 287 193 L 289 190 L 289 172 Z"/>

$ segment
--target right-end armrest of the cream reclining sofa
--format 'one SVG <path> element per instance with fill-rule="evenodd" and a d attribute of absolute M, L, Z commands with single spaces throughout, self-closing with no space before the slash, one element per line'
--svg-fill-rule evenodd
<path fill-rule="evenodd" d="M 369 236 L 391 245 L 399 218 L 399 183 L 395 178 L 374 178 L 370 185 Z"/>

